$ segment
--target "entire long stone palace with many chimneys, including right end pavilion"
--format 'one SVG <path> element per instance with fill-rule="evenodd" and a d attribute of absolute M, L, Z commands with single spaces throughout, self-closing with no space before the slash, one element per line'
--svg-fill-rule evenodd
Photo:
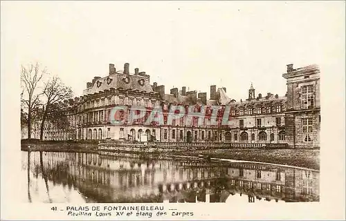
<path fill-rule="evenodd" d="M 291 148 L 317 148 L 320 146 L 320 70 L 312 65 L 294 69 L 287 65 L 282 75 L 287 79 L 284 96 L 255 95 L 251 84 L 247 99 L 236 102 L 226 94 L 226 88 L 210 86 L 207 93 L 186 91 L 183 86 L 170 89 L 156 82 L 150 84 L 145 72 L 116 70 L 109 64 L 109 74 L 94 77 L 86 83 L 81 97 L 70 99 L 60 106 L 68 116 L 70 126 L 66 130 L 55 129 L 49 122 L 44 130 L 44 140 L 133 140 L 160 142 L 229 142 L 240 144 L 287 144 Z M 129 113 L 117 113 L 125 121 L 111 124 L 111 109 L 115 106 L 143 106 L 147 114 L 128 124 Z M 185 115 L 173 124 L 167 124 L 171 105 L 195 106 L 195 111 L 206 106 L 206 119 L 197 124 L 198 117 Z M 163 108 L 163 125 L 145 125 L 154 108 Z M 213 107 L 218 106 L 217 125 L 210 125 Z M 228 125 L 221 124 L 226 106 L 230 106 Z M 189 122 L 190 121 L 190 122 Z M 188 124 L 186 122 L 189 122 Z"/>

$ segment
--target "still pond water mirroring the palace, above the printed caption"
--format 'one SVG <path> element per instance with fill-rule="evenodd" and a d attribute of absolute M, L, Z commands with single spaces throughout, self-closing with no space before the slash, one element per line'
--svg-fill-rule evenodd
<path fill-rule="evenodd" d="M 319 173 L 263 164 L 22 152 L 27 202 L 319 201 Z"/>

